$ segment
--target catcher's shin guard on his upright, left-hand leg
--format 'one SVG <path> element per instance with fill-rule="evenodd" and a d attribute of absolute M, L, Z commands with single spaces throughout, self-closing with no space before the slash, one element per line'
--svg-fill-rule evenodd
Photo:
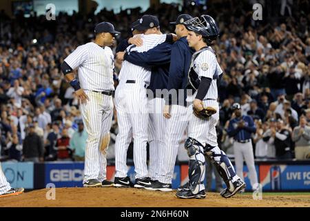
<path fill-rule="evenodd" d="M 189 155 L 189 189 L 197 194 L 200 190 L 200 184 L 205 180 L 205 161 L 203 156 L 203 145 L 192 137 L 187 138 L 185 148 Z M 202 158 L 203 157 L 203 158 Z"/>

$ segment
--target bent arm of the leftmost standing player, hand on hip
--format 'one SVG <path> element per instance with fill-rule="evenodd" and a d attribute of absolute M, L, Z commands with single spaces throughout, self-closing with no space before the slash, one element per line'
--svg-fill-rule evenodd
<path fill-rule="evenodd" d="M 74 69 L 83 64 L 87 59 L 87 50 L 79 46 L 72 52 L 65 61 L 61 64 L 61 70 L 65 79 L 70 82 L 72 88 L 74 88 L 76 96 L 81 99 L 81 103 L 85 103 L 88 99 L 84 90 L 81 88 L 79 81 L 75 78 Z"/>

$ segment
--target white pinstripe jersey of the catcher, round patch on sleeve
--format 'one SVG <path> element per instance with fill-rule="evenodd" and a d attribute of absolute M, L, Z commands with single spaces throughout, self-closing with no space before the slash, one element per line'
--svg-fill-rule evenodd
<path fill-rule="evenodd" d="M 218 79 L 218 76 L 223 73 L 223 70 L 218 64 L 216 55 L 210 50 L 212 49 L 208 47 L 208 50 L 200 52 L 196 59 L 192 61 L 192 65 L 200 79 L 201 77 L 209 77 L 212 79 L 207 95 L 205 95 L 205 99 L 218 99 L 216 80 Z M 196 97 L 196 93 L 194 94 L 194 97 Z"/>

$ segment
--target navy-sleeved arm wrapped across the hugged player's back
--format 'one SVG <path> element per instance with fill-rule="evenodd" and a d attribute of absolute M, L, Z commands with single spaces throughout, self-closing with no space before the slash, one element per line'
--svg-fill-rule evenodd
<path fill-rule="evenodd" d="M 146 52 L 125 52 L 124 60 L 129 61 L 137 66 L 152 68 L 161 66 L 170 62 L 171 46 L 162 43 Z"/>

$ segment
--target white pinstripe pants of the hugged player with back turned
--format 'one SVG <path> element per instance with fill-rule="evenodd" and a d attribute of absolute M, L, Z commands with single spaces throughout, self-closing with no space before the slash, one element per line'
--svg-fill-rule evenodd
<path fill-rule="evenodd" d="M 116 177 L 127 176 L 127 148 L 134 138 L 136 178 L 147 177 L 147 93 L 143 82 L 119 84 L 115 92 L 118 135 L 115 143 Z"/>

